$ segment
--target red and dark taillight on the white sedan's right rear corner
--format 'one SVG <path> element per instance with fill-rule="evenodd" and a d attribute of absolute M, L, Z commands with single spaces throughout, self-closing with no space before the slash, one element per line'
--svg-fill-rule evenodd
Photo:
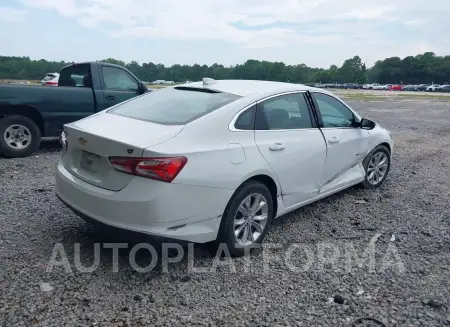
<path fill-rule="evenodd" d="M 126 174 L 156 179 L 170 183 L 179 174 L 184 165 L 186 157 L 155 157 L 155 158 L 130 158 L 109 157 L 109 161 L 118 171 Z"/>

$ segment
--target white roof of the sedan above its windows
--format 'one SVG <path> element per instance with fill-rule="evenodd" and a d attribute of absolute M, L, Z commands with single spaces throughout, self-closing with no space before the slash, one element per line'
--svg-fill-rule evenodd
<path fill-rule="evenodd" d="M 258 81 L 258 80 L 213 80 L 205 78 L 203 82 L 191 82 L 176 87 L 190 87 L 231 93 L 246 97 L 252 94 L 271 95 L 290 91 L 320 90 L 303 84 Z M 321 90 L 321 92 L 323 92 Z"/>

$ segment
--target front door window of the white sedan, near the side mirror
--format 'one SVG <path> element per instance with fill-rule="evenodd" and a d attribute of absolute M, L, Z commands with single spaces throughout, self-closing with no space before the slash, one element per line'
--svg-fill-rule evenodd
<path fill-rule="evenodd" d="M 313 93 L 313 95 L 322 116 L 323 127 L 354 126 L 355 117 L 342 102 L 323 93 Z"/>

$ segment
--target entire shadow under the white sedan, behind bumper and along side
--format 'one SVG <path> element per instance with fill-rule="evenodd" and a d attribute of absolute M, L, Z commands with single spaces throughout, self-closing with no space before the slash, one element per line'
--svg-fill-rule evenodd
<path fill-rule="evenodd" d="M 302 227 L 304 226 L 307 228 L 305 232 L 312 237 L 310 241 L 314 242 L 314 235 L 316 235 L 317 231 L 311 227 L 314 226 L 314 224 L 306 224 L 306 222 L 308 222 L 307 220 L 310 219 L 308 213 L 317 206 L 325 205 L 326 207 L 328 206 L 328 202 L 339 201 L 342 197 L 347 196 L 348 194 L 354 194 L 355 192 L 358 193 L 358 189 L 352 187 L 276 219 L 273 222 L 271 231 L 269 231 L 269 239 L 270 234 L 276 232 L 275 230 L 280 227 L 289 229 L 296 228 L 295 225 L 297 224 L 302 224 Z M 73 213 L 70 214 L 74 215 Z M 68 229 L 63 229 L 62 235 L 60 235 L 62 244 L 64 245 L 68 256 L 70 257 L 69 253 L 79 255 L 78 260 L 80 262 L 86 262 L 86 265 L 89 265 L 88 263 L 92 263 L 94 256 L 97 255 L 100 257 L 100 269 L 106 269 L 104 273 L 109 274 L 111 272 L 118 272 L 120 274 L 122 272 L 126 274 L 131 272 L 133 274 L 137 273 L 138 275 L 145 275 L 147 276 L 146 278 L 148 278 L 148 276 L 155 278 L 167 273 L 167 271 L 162 271 L 163 262 L 165 260 L 166 267 L 169 262 L 169 275 L 180 276 L 188 273 L 189 260 L 194 260 L 196 262 L 195 266 L 210 266 L 211 262 L 216 259 L 218 253 L 220 255 L 220 258 L 218 257 L 218 259 L 224 259 L 224 252 L 221 250 L 219 251 L 219 247 L 215 242 L 189 244 L 189 242 L 185 241 L 159 238 L 143 233 L 106 226 L 100 223 L 86 222 L 76 215 L 74 215 L 74 218 L 79 219 L 80 223 L 71 225 Z M 283 244 L 283 246 L 289 245 L 289 240 L 286 240 L 286 242 L 287 243 Z M 80 249 L 78 254 L 74 252 L 75 244 L 77 244 Z M 112 269 L 114 260 L 113 247 L 119 248 L 117 252 L 118 271 L 113 271 Z M 140 249 L 136 251 L 135 247 Z M 163 247 L 166 247 L 168 250 L 164 252 Z M 152 248 L 154 251 L 150 251 L 149 248 Z M 174 258 L 180 255 L 180 248 L 182 249 L 182 257 L 179 257 L 177 262 L 172 262 L 171 260 L 174 260 Z M 95 253 L 95 251 L 98 253 Z M 251 256 L 253 259 L 258 260 L 261 252 L 261 248 L 255 249 Z M 131 260 L 133 260 L 133 262 Z M 134 264 L 138 267 L 149 267 L 153 263 L 154 266 L 151 271 L 144 274 L 136 271 L 135 266 L 133 266 Z"/>

